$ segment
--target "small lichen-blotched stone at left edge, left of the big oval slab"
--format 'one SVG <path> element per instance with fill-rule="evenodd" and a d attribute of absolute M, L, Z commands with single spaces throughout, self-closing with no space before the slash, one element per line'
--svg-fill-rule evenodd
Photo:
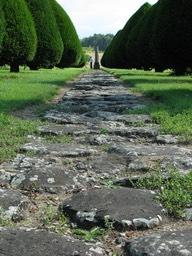
<path fill-rule="evenodd" d="M 29 203 L 29 198 L 19 191 L 0 189 L 0 206 L 2 207 L 0 217 L 3 219 L 22 220 Z"/>

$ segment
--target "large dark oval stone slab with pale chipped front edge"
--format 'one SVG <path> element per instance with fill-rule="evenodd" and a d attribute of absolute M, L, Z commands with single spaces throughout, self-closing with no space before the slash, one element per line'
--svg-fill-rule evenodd
<path fill-rule="evenodd" d="M 146 229 L 162 223 L 163 209 L 154 197 L 149 190 L 92 189 L 65 200 L 62 209 L 84 228 L 104 226 L 107 217 L 117 230 Z"/>

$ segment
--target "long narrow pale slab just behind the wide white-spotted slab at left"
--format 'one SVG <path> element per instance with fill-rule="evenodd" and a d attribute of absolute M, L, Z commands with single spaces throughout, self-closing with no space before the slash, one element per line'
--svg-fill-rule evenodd
<path fill-rule="evenodd" d="M 74 143 L 46 143 L 39 139 L 34 139 L 30 143 L 21 146 L 21 152 L 33 152 L 39 155 L 58 156 L 58 157 L 82 157 L 97 154 L 98 151 L 89 146 Z"/>

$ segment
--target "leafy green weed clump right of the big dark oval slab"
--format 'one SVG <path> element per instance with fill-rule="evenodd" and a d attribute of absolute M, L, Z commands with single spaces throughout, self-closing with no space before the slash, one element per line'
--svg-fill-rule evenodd
<path fill-rule="evenodd" d="M 192 207 L 192 171 L 182 175 L 177 169 L 170 169 L 166 176 L 160 171 L 152 172 L 149 177 L 140 178 L 136 187 L 156 190 L 156 199 L 174 217 L 186 217 L 184 209 Z"/>

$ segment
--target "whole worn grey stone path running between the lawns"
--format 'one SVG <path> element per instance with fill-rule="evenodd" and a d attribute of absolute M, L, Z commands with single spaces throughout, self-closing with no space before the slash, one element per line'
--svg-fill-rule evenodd
<path fill-rule="evenodd" d="M 191 222 L 171 220 L 155 192 L 132 187 L 157 165 L 164 171 L 170 165 L 182 173 L 192 169 L 191 146 L 161 135 L 148 115 L 122 114 L 142 108 L 139 98 L 102 70 L 74 82 L 45 115 L 49 123 L 38 128 L 40 136 L 29 135 L 21 153 L 0 165 L 0 220 L 16 222 L 0 227 L 0 256 L 192 255 Z M 65 235 L 39 222 L 38 197 L 68 216 Z M 100 242 L 74 237 L 74 228 L 105 229 L 107 221 L 116 231 Z"/>

